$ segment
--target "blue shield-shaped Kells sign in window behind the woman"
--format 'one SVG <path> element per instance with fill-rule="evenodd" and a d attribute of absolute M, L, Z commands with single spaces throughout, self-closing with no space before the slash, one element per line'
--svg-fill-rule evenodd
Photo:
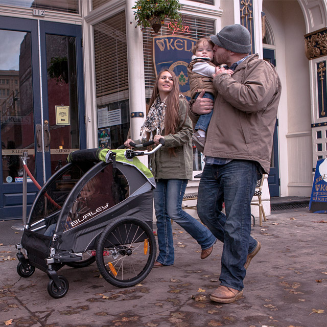
<path fill-rule="evenodd" d="M 178 79 L 182 94 L 190 100 L 191 92 L 186 67 L 191 62 L 196 40 L 186 36 L 154 36 L 152 39 L 153 64 L 158 76 L 162 69 L 170 69 Z"/>

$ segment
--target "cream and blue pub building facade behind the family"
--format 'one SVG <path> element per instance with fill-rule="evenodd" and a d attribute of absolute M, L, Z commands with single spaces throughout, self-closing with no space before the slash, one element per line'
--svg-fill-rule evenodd
<path fill-rule="evenodd" d="M 282 81 L 268 199 L 310 196 L 327 154 L 326 1 L 180 3 L 183 28 L 155 33 L 136 27 L 134 0 L 0 0 L 0 219 L 21 217 L 22 152 L 42 185 L 69 152 L 137 139 L 159 70 L 173 69 L 188 97 L 194 42 L 231 24 Z M 194 148 L 194 175 L 202 167 Z M 36 193 L 29 179 L 28 209 Z"/>

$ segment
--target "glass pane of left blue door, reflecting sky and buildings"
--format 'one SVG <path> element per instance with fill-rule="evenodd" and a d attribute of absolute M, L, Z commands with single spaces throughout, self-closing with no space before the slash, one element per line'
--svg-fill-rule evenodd
<path fill-rule="evenodd" d="M 31 34 L 0 30 L 0 53 L 0 80 L 6 84 L 0 94 L 3 182 L 14 183 L 22 178 L 21 150 L 35 171 Z"/>

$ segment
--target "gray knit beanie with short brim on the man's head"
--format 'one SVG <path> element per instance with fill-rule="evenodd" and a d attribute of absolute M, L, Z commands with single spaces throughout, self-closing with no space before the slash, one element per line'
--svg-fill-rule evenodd
<path fill-rule="evenodd" d="M 217 35 L 211 35 L 210 38 L 220 48 L 236 53 L 251 52 L 250 32 L 240 24 L 225 26 Z"/>

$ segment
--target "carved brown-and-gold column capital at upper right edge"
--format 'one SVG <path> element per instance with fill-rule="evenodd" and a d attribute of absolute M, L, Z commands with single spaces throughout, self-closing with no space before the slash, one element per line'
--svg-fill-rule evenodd
<path fill-rule="evenodd" d="M 305 35 L 306 57 L 311 60 L 327 55 L 327 29 Z"/>

